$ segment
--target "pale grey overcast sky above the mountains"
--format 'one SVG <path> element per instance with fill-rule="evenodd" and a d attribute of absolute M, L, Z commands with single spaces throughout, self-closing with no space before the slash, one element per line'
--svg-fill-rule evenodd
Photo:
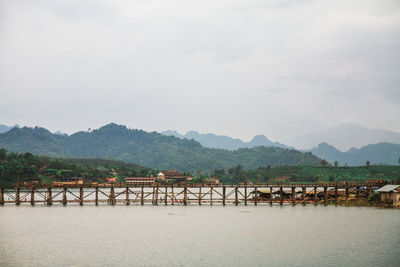
<path fill-rule="evenodd" d="M 0 124 L 400 132 L 400 1 L 0 2 Z"/>

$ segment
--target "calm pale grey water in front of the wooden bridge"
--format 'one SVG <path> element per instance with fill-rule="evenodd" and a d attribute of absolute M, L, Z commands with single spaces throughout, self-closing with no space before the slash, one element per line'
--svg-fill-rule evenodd
<path fill-rule="evenodd" d="M 400 266 L 400 211 L 4 206 L 0 266 Z"/>

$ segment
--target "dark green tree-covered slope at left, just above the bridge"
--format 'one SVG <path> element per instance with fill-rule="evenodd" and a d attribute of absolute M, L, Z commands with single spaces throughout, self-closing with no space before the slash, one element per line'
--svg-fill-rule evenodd
<path fill-rule="evenodd" d="M 48 183 L 49 169 L 68 170 L 68 175 L 81 177 L 85 182 L 104 182 L 107 177 L 150 176 L 157 170 L 123 161 L 106 159 L 65 159 L 37 156 L 31 153 L 14 153 L 0 148 L 0 184 L 22 183 L 38 180 Z M 52 179 L 63 177 L 52 177 Z M 120 179 L 118 179 L 120 180 Z"/>

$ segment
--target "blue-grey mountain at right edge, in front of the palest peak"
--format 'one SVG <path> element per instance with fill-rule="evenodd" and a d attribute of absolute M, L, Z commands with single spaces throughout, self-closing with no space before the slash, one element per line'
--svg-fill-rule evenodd
<path fill-rule="evenodd" d="M 360 149 L 352 148 L 347 152 L 341 152 L 334 146 L 321 143 L 310 152 L 332 164 L 337 160 L 341 166 L 344 164 L 360 166 L 365 165 L 367 161 L 371 164 L 397 165 L 400 159 L 400 145 L 391 143 L 377 143 Z"/>

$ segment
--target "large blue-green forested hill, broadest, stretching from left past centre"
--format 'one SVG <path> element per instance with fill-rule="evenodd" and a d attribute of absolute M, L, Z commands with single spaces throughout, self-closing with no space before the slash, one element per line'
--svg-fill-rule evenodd
<path fill-rule="evenodd" d="M 242 165 L 246 169 L 277 165 L 319 165 L 321 159 L 277 147 L 235 151 L 205 148 L 200 143 L 156 132 L 108 124 L 91 132 L 70 136 L 44 128 L 14 128 L 0 134 L 0 147 L 52 157 L 106 158 L 133 162 L 155 169 L 214 170 Z"/>

